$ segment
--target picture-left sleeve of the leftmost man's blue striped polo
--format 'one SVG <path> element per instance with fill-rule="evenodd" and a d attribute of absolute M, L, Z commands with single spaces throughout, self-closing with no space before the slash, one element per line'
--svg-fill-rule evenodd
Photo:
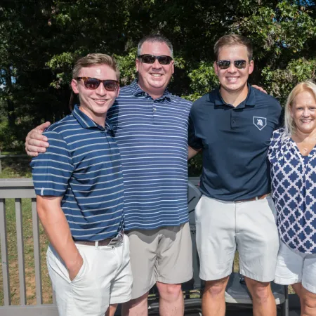
<path fill-rule="evenodd" d="M 67 143 L 55 131 L 46 131 L 49 147 L 32 159 L 32 177 L 37 195 L 65 195 L 74 166 Z"/>

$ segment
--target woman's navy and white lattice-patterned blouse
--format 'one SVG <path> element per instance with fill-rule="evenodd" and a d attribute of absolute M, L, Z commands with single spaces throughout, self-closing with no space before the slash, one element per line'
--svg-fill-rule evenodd
<path fill-rule="evenodd" d="M 278 129 L 268 158 L 280 238 L 294 251 L 316 254 L 316 147 L 305 157 Z"/>

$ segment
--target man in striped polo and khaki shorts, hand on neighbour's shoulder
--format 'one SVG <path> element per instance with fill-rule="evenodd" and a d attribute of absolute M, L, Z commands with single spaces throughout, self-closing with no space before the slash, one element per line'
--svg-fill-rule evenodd
<path fill-rule="evenodd" d="M 181 283 L 192 278 L 192 243 L 187 213 L 187 118 L 191 103 L 166 87 L 173 74 L 173 47 L 160 35 L 138 44 L 138 80 L 121 88 L 108 112 L 121 153 L 124 212 L 133 271 L 132 300 L 124 315 L 147 315 L 148 291 L 159 290 L 160 315 L 183 315 Z M 27 136 L 27 153 L 48 147 L 41 135 Z"/>

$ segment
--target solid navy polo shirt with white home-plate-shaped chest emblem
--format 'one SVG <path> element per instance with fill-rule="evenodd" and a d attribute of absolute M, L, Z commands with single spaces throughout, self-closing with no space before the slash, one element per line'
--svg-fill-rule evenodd
<path fill-rule="evenodd" d="M 219 88 L 192 105 L 188 143 L 203 150 L 200 187 L 207 197 L 232 202 L 270 192 L 267 154 L 282 107 L 272 96 L 248 88 L 237 107 L 224 102 Z"/>

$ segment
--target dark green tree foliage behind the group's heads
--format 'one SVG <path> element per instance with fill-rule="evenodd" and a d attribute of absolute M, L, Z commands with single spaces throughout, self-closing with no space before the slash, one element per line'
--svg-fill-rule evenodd
<path fill-rule="evenodd" d="M 121 84 L 129 84 L 137 43 L 152 32 L 171 39 L 176 72 L 170 90 L 190 100 L 218 85 L 213 44 L 232 32 L 253 40 L 251 83 L 281 103 L 298 81 L 315 79 L 315 1 L 3 0 L 0 98 L 8 133 L 22 144 L 40 121 L 69 112 L 71 69 L 81 55 L 114 55 Z"/>

